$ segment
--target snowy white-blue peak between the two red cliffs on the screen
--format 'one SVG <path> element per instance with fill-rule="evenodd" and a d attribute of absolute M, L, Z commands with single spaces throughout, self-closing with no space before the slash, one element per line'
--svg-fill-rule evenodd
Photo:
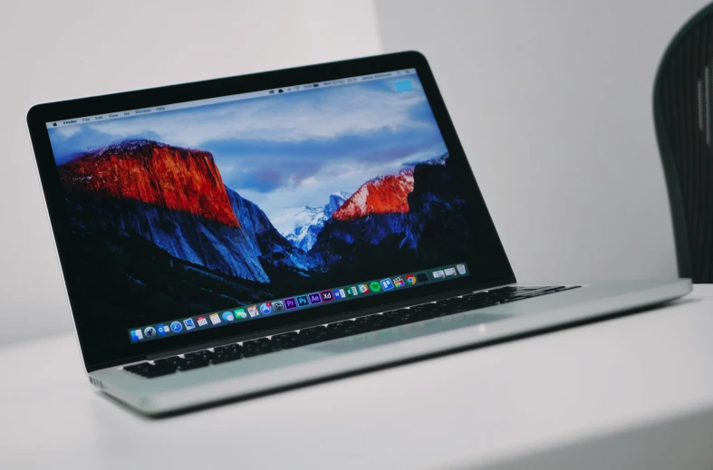
<path fill-rule="evenodd" d="M 350 193 L 332 193 L 322 207 L 288 207 L 270 221 L 284 237 L 297 248 L 310 251 L 322 231 L 324 223 L 339 209 Z"/>

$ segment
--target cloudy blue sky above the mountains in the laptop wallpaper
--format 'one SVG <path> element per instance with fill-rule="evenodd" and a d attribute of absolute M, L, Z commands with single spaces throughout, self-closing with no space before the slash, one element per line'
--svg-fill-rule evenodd
<path fill-rule="evenodd" d="M 58 165 L 124 139 L 207 150 L 226 186 L 268 216 L 447 151 L 416 75 L 53 128 L 50 139 Z"/>

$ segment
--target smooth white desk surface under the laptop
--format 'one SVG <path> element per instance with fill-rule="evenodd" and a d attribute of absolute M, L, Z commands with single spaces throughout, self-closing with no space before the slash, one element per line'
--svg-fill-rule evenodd
<path fill-rule="evenodd" d="M 3 469 L 713 468 L 711 285 L 618 320 L 161 420 L 94 391 L 72 336 L 0 350 L 0 373 Z"/>

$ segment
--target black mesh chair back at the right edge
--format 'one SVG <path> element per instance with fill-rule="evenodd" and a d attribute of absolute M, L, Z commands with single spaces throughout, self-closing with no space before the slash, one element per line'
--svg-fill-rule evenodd
<path fill-rule="evenodd" d="M 713 4 L 693 16 L 664 53 L 653 116 L 679 276 L 713 283 Z"/>

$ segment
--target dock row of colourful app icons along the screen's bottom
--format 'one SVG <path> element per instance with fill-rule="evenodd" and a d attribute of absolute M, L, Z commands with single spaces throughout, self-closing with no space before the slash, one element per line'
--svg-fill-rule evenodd
<path fill-rule="evenodd" d="M 134 344 L 176 336 L 194 331 L 207 330 L 243 321 L 257 320 L 262 317 L 272 317 L 282 313 L 296 312 L 298 310 L 322 307 L 332 302 L 356 300 L 358 298 L 411 289 L 421 285 L 439 283 L 469 275 L 467 264 L 451 264 L 426 271 L 399 274 L 364 283 L 353 283 L 326 289 L 313 293 L 303 293 L 283 299 L 266 302 L 255 302 L 242 305 L 220 312 L 208 312 L 188 318 L 161 321 L 151 325 L 131 328 L 130 341 Z"/>

